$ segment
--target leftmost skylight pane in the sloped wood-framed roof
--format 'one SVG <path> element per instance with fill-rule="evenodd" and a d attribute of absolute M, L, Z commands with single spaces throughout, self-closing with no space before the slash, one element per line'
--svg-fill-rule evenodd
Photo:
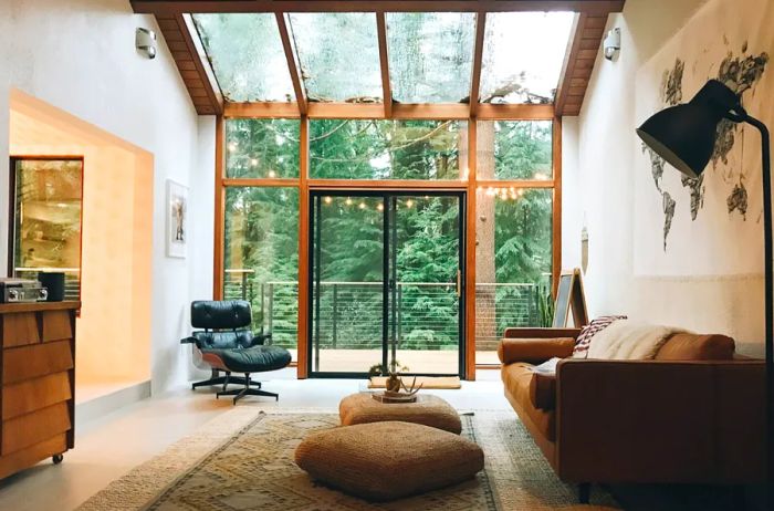
<path fill-rule="evenodd" d="M 192 18 L 227 101 L 295 101 L 274 14 Z"/>

